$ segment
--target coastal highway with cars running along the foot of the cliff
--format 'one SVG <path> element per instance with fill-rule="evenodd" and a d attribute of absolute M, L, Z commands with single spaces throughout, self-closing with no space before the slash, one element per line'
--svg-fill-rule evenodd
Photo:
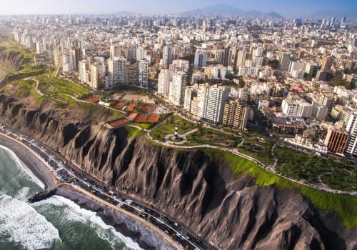
<path fill-rule="evenodd" d="M 212 247 L 206 246 L 202 241 L 197 239 L 197 237 L 188 233 L 183 226 L 179 225 L 175 221 L 161 215 L 158 211 L 154 211 L 149 207 L 139 204 L 136 201 L 131 201 L 126 199 L 123 194 L 114 194 L 114 191 L 101 186 L 98 181 L 91 178 L 91 176 L 84 176 L 81 170 L 76 169 L 69 162 L 56 154 L 51 149 L 41 144 L 35 139 L 31 139 L 23 134 L 16 133 L 11 129 L 6 129 L 4 125 L 1 125 L 2 134 L 10 136 L 13 139 L 21 141 L 23 144 L 30 146 L 33 151 L 41 156 L 52 168 L 52 172 L 56 175 L 56 178 L 60 182 L 77 185 L 82 189 L 89 191 L 94 194 L 99 199 L 109 202 L 115 206 L 119 206 L 121 209 L 129 211 L 131 214 L 140 216 L 145 219 L 156 228 L 163 231 L 165 234 L 171 237 L 174 241 L 178 242 L 181 249 L 213 249 Z"/>

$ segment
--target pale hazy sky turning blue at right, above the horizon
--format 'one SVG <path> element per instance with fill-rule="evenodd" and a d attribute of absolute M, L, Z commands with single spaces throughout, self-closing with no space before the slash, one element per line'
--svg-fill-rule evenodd
<path fill-rule="evenodd" d="M 0 0 L 0 14 L 104 14 L 118 11 L 174 14 L 219 3 L 244 11 L 276 11 L 283 16 L 304 16 L 321 10 L 357 11 L 357 0 Z"/>

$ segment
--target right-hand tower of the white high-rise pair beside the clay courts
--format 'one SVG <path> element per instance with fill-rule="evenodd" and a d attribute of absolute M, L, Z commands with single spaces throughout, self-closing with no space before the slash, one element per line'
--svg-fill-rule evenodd
<path fill-rule="evenodd" d="M 172 81 L 170 81 L 169 87 L 169 101 L 171 104 L 176 106 L 183 105 L 187 80 L 187 74 L 183 71 L 178 71 L 172 74 Z"/>

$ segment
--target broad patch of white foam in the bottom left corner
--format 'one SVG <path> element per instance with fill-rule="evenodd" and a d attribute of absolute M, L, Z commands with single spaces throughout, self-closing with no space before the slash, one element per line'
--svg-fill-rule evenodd
<path fill-rule="evenodd" d="M 10 241 L 30 250 L 49 249 L 60 240 L 54 225 L 29 204 L 3 194 L 0 207 L 0 236 L 9 235 Z"/>

